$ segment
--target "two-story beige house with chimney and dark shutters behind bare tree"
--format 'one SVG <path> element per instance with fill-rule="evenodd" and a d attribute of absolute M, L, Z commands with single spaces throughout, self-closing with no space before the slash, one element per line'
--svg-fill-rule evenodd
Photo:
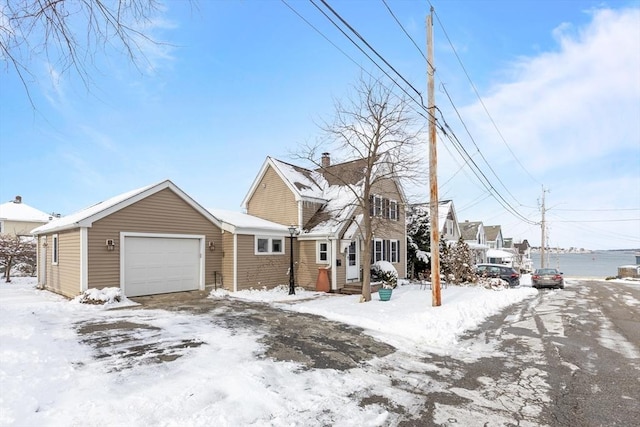
<path fill-rule="evenodd" d="M 370 254 L 362 251 L 357 205 L 365 160 L 331 164 L 310 170 L 267 157 L 242 202 L 247 214 L 300 230 L 294 258 L 296 284 L 316 285 L 320 270 L 328 270 L 331 291 L 362 288 L 362 269 L 379 260 L 391 262 L 406 275 L 406 198 L 397 179 L 372 189 L 371 212 L 376 228 Z"/>

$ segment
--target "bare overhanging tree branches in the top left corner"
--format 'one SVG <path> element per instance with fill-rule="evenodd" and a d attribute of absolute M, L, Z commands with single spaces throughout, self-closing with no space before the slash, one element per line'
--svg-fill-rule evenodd
<path fill-rule="evenodd" d="M 0 58 L 31 100 L 30 61 L 44 56 L 56 72 L 74 70 L 85 85 L 98 50 L 121 49 L 136 65 L 147 61 L 156 0 L 5 0 L 0 5 Z M 32 101 L 33 104 L 33 101 Z"/>

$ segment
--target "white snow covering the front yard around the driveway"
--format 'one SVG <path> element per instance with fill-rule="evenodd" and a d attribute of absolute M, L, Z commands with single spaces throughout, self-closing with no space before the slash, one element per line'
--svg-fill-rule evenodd
<path fill-rule="evenodd" d="M 218 291 L 211 297 L 319 314 L 362 327 L 410 354 L 464 357 L 457 337 L 537 294 L 530 276 L 521 283 L 520 288 L 497 291 L 451 286 L 442 289 L 437 308 L 431 306 L 431 291 L 415 284 L 398 286 L 387 302 L 377 294 L 369 303 L 359 303 L 358 296 L 303 290 L 289 296 L 286 287 Z M 127 308 L 131 304 L 126 299 L 105 305 L 68 301 L 35 289 L 34 279 L 0 283 L 0 425 L 382 426 L 388 423 L 384 408 L 361 407 L 350 398 L 352 393 L 374 388 L 399 405 L 411 404 L 392 391 L 387 376 L 373 374 L 367 364 L 347 372 L 299 369 L 293 362 L 259 357 L 258 332 L 239 334 L 202 315 L 132 310 Z M 114 370 L 80 342 L 77 325 L 121 317 L 207 345 L 185 348 L 171 362 Z M 389 363 L 393 354 L 387 357 Z"/>

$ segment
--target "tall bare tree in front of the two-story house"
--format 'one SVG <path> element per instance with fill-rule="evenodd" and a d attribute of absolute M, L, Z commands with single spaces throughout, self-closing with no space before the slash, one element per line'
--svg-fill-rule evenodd
<path fill-rule="evenodd" d="M 363 239 L 362 253 L 368 257 L 376 231 L 389 227 L 387 219 L 371 214 L 371 197 L 379 194 L 374 191 L 384 188 L 384 181 L 406 183 L 420 176 L 421 157 L 425 156 L 417 155 L 417 150 L 423 126 L 415 120 L 410 101 L 396 95 L 380 79 L 361 77 L 353 89 L 346 100 L 335 102 L 333 122 L 321 125 L 326 141 L 307 144 L 301 150 L 304 154 L 298 156 L 314 163 L 325 176 L 330 176 L 353 193 L 353 203 L 362 214 L 362 221 L 356 222 Z M 327 150 L 327 144 L 338 157 L 359 162 L 361 167 L 355 174 L 357 179 L 353 174 L 345 176 L 330 167 L 322 167 L 318 154 Z M 404 223 L 401 226 L 404 228 Z M 363 264 L 362 300 L 370 301 L 368 258 Z"/>

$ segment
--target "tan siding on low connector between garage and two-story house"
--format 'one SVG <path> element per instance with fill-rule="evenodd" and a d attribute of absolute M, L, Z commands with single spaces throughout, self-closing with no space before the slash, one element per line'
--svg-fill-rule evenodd
<path fill-rule="evenodd" d="M 238 290 L 289 284 L 289 242 L 284 240 L 283 254 L 256 255 L 255 236 L 238 235 Z"/>

